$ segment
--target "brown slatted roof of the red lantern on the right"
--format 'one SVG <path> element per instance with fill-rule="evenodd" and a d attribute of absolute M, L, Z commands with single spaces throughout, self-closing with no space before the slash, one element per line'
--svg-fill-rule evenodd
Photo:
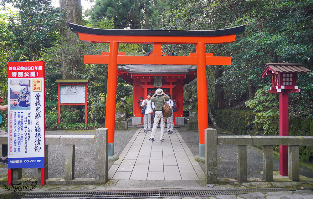
<path fill-rule="evenodd" d="M 305 68 L 303 64 L 294 63 L 266 63 L 266 68 L 262 72 L 262 77 L 272 76 L 280 72 L 283 73 L 305 73 L 307 74 L 311 70 Z"/>

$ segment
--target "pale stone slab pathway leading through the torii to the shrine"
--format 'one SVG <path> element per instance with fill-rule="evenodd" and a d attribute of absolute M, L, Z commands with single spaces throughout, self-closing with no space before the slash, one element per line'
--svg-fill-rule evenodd
<path fill-rule="evenodd" d="M 204 173 L 179 132 L 164 133 L 155 141 L 139 128 L 108 171 L 112 180 L 204 180 Z"/>

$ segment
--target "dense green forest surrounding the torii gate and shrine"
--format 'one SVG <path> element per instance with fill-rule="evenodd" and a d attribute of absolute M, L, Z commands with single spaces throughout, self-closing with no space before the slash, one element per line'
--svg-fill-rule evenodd
<path fill-rule="evenodd" d="M 279 97 L 268 93 L 271 79 L 261 77 L 265 64 L 303 63 L 313 69 L 312 0 L 96 0 L 84 13 L 80 0 L 60 0 L 59 8 L 51 0 L 3 0 L 0 11 L 0 95 L 7 95 L 8 61 L 45 61 L 46 126 L 51 129 L 105 122 L 108 66 L 83 64 L 83 55 L 108 52 L 109 46 L 80 41 L 68 22 L 106 29 L 177 30 L 246 24 L 235 42 L 206 46 L 213 56 L 231 56 L 230 66 L 207 66 L 208 105 L 212 110 L 257 112 L 254 124 L 261 124 L 264 134 L 275 134 L 279 119 Z M 119 45 L 127 55 L 144 55 L 151 48 Z M 195 45 L 162 48 L 174 56 L 196 52 Z M 79 106 L 62 107 L 62 123 L 57 124 L 56 79 L 90 79 L 88 125 L 81 124 L 84 112 Z M 289 96 L 290 119 L 312 120 L 313 73 L 300 74 L 297 84 L 301 92 Z M 117 99 L 121 97 L 132 115 L 132 85 L 118 78 Z M 197 99 L 196 80 L 184 86 L 184 104 L 189 98 Z"/>

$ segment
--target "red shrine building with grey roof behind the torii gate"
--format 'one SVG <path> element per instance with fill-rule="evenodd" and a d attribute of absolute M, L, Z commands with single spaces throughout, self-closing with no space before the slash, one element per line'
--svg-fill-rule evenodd
<path fill-rule="evenodd" d="M 163 56 L 172 56 L 164 52 Z M 144 56 L 153 56 L 153 48 Z M 192 56 L 192 54 L 191 54 Z M 118 66 L 117 74 L 129 84 L 134 86 L 134 113 L 132 124 L 141 124 L 141 102 L 147 94 L 155 93 L 156 89 L 171 94 L 171 99 L 176 102 L 177 111 L 173 113 L 174 124 L 183 125 L 183 86 L 197 78 L 196 65 L 161 65 L 141 64 Z M 151 117 L 153 124 L 153 116 Z"/>

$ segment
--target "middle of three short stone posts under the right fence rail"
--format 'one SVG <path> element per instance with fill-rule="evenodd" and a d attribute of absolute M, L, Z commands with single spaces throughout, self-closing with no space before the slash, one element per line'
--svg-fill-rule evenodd
<path fill-rule="evenodd" d="M 263 145 L 263 179 L 266 181 L 274 181 L 272 145 Z"/>

